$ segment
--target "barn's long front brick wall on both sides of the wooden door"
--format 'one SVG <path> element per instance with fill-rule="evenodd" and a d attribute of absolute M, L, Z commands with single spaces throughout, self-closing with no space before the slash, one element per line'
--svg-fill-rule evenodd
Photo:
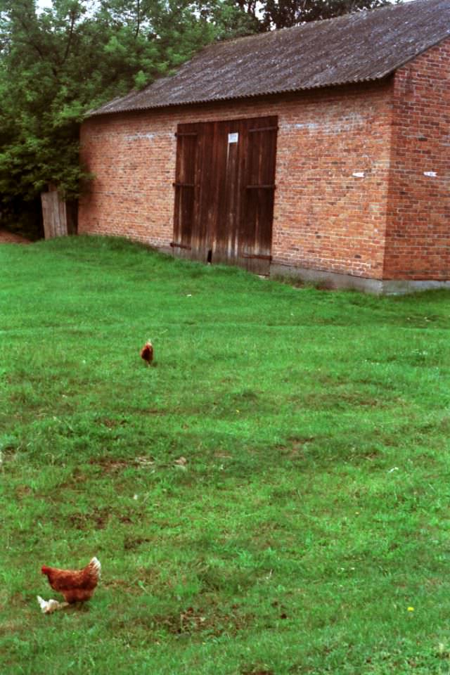
<path fill-rule="evenodd" d="M 93 117 L 82 126 L 82 159 L 96 179 L 79 232 L 168 246 L 176 124 L 275 114 L 274 263 L 381 278 L 391 96 L 389 81 Z"/>

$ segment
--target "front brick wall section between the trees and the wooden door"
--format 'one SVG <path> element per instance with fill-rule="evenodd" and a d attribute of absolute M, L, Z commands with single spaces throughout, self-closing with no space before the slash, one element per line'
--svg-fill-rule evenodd
<path fill-rule="evenodd" d="M 153 117 L 153 118 L 152 118 Z M 82 161 L 95 179 L 79 204 L 79 233 L 172 239 L 174 129 L 162 115 L 94 117 L 82 125 Z"/>

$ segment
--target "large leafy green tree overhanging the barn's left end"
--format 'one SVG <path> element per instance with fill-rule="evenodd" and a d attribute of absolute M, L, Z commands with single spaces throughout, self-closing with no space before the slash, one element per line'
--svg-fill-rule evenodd
<path fill-rule="evenodd" d="M 0 0 L 0 210 L 49 183 L 68 198 L 87 110 L 186 60 L 219 29 L 188 0 Z"/>

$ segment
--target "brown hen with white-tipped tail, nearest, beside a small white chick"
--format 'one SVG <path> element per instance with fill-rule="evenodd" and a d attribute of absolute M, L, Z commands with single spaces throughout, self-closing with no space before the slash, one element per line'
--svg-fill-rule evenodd
<path fill-rule="evenodd" d="M 101 564 L 92 558 L 82 570 L 58 570 L 58 567 L 42 565 L 41 572 L 46 574 L 53 591 L 63 593 L 66 603 L 79 603 L 89 600 L 100 579 Z"/>

